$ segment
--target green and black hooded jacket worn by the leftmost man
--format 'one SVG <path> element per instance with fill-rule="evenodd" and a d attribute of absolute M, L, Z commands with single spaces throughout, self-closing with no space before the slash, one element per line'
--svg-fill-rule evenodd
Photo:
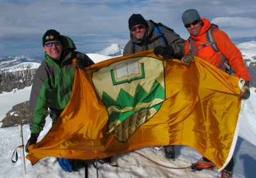
<path fill-rule="evenodd" d="M 60 115 L 67 106 L 76 73 L 72 59 L 79 56 L 88 61 L 88 66 L 93 64 L 88 56 L 75 51 L 76 45 L 70 38 L 61 37 L 63 38 L 61 63 L 56 63 L 45 52 L 45 59 L 36 70 L 33 79 L 29 100 L 29 110 L 33 116 L 33 122 L 30 124 L 31 133 L 40 133 L 43 130 L 48 109 Z"/>

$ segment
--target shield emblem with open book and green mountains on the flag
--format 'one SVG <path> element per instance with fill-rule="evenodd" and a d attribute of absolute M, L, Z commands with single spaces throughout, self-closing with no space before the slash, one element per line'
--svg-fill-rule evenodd
<path fill-rule="evenodd" d="M 153 57 L 124 59 L 92 75 L 100 100 L 108 109 L 108 133 L 126 142 L 165 100 L 163 61 Z"/>

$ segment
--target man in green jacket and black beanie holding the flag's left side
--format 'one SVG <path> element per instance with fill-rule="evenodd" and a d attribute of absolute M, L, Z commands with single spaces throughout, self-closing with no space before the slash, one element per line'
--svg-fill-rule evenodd
<path fill-rule="evenodd" d="M 33 116 L 30 124 L 31 137 L 26 144 L 36 144 L 37 138 L 45 125 L 48 110 L 52 124 L 67 106 L 74 83 L 76 67 L 72 60 L 76 59 L 76 66 L 85 68 L 93 64 L 86 54 L 76 52 L 76 45 L 67 36 L 50 29 L 43 36 L 45 59 L 36 70 L 29 100 L 29 110 Z"/>

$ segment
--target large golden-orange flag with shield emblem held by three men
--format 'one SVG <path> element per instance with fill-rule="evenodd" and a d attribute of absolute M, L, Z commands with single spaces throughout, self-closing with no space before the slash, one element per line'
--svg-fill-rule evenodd
<path fill-rule="evenodd" d="M 47 156 L 95 159 L 187 145 L 223 168 L 237 140 L 239 82 L 197 57 L 188 66 L 152 51 L 77 69 L 70 102 L 27 158 L 34 165 Z"/>

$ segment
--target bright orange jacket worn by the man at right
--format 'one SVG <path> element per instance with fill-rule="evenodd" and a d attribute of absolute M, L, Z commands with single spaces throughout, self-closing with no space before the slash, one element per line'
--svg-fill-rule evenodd
<path fill-rule="evenodd" d="M 205 43 L 208 43 L 206 32 L 211 27 L 211 22 L 207 19 L 202 19 L 204 26 L 198 36 L 191 36 L 196 42 L 196 47 L 199 47 Z M 248 70 L 244 64 L 244 60 L 240 50 L 232 43 L 228 38 L 227 34 L 219 29 L 213 30 L 213 38 L 216 42 L 217 47 L 220 49 L 221 54 L 223 54 L 229 60 L 229 64 L 232 66 L 237 77 L 243 78 L 244 80 L 251 80 Z M 185 55 L 189 53 L 188 49 L 189 42 L 186 40 L 185 43 Z M 211 45 L 198 50 L 198 57 L 212 64 L 213 66 L 218 66 L 220 63 L 220 55 L 214 51 Z"/>

